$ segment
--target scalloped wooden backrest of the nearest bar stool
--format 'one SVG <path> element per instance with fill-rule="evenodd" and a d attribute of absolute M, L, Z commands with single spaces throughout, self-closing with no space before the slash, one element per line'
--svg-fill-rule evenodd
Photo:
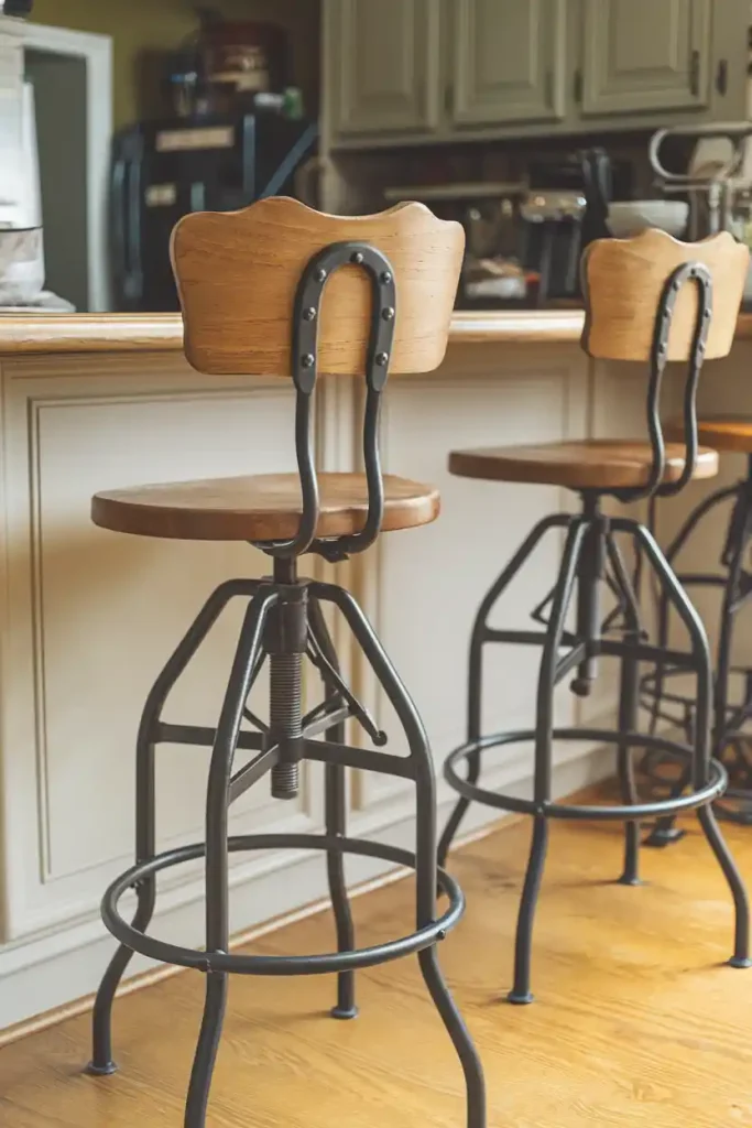
<path fill-rule="evenodd" d="M 461 226 L 436 219 L 419 203 L 346 218 L 285 196 L 238 212 L 196 212 L 177 224 L 172 268 L 188 361 L 216 376 L 290 376 L 301 274 L 322 248 L 348 241 L 371 244 L 393 268 L 397 316 L 389 371 L 433 371 L 446 350 L 465 250 Z M 319 324 L 319 372 L 364 372 L 371 305 L 362 268 L 347 265 L 331 274 Z"/>

